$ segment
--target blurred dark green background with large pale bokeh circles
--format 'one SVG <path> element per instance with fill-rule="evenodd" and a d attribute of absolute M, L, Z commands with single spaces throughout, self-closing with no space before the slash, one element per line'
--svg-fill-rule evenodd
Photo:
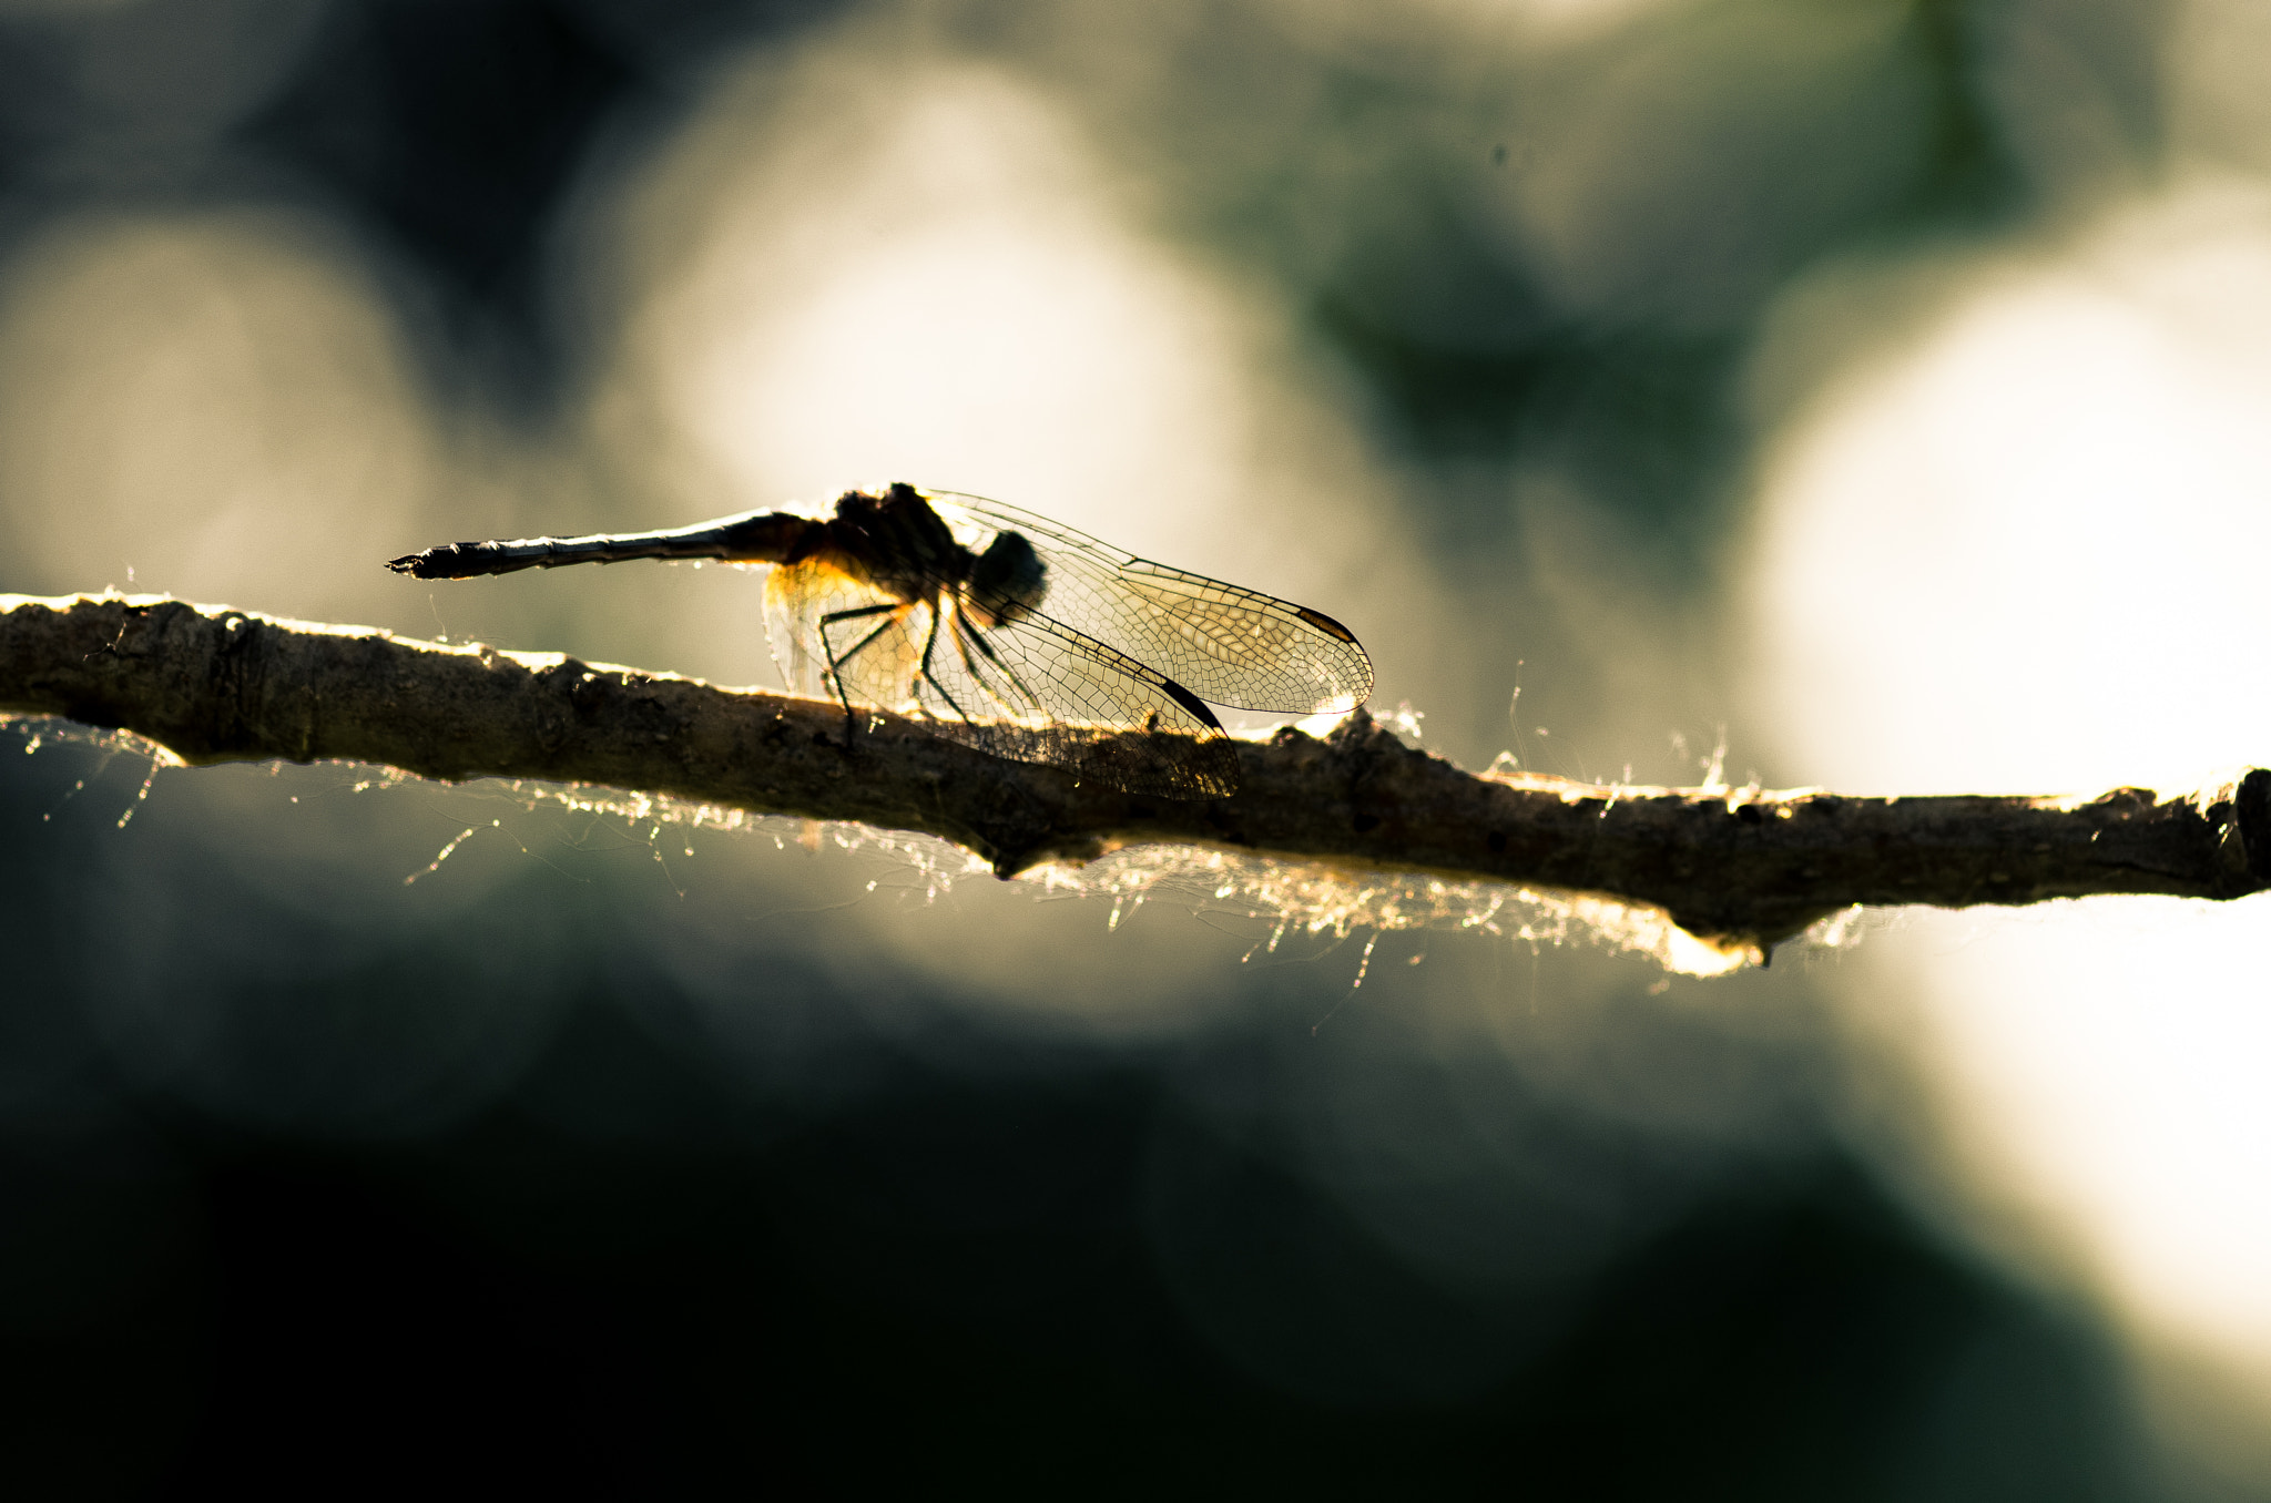
<path fill-rule="evenodd" d="M 2189 788 L 2271 758 L 2266 73 L 2253 0 L 0 0 L 0 590 L 774 683 L 745 572 L 379 563 L 913 479 L 1331 611 L 1469 767 Z M 11 1496 L 2271 1496 L 2260 899 L 1354 990 L 39 729 Z"/>

